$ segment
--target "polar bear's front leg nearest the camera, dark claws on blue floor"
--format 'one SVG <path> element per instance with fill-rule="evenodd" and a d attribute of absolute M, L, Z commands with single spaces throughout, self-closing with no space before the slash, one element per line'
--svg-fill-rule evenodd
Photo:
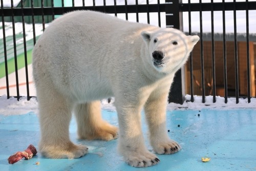
<path fill-rule="evenodd" d="M 116 108 L 119 120 L 118 151 L 125 162 L 134 167 L 157 164 L 160 160 L 155 154 L 150 153 L 144 144 L 139 108 L 129 104 L 117 104 Z"/>

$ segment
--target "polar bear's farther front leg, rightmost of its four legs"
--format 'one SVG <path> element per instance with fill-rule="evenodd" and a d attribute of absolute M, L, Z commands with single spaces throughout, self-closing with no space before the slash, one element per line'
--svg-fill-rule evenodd
<path fill-rule="evenodd" d="M 166 129 L 166 105 L 168 93 L 153 92 L 145 103 L 144 110 L 150 129 L 150 142 L 158 154 L 173 154 L 181 146 L 169 139 Z"/>

